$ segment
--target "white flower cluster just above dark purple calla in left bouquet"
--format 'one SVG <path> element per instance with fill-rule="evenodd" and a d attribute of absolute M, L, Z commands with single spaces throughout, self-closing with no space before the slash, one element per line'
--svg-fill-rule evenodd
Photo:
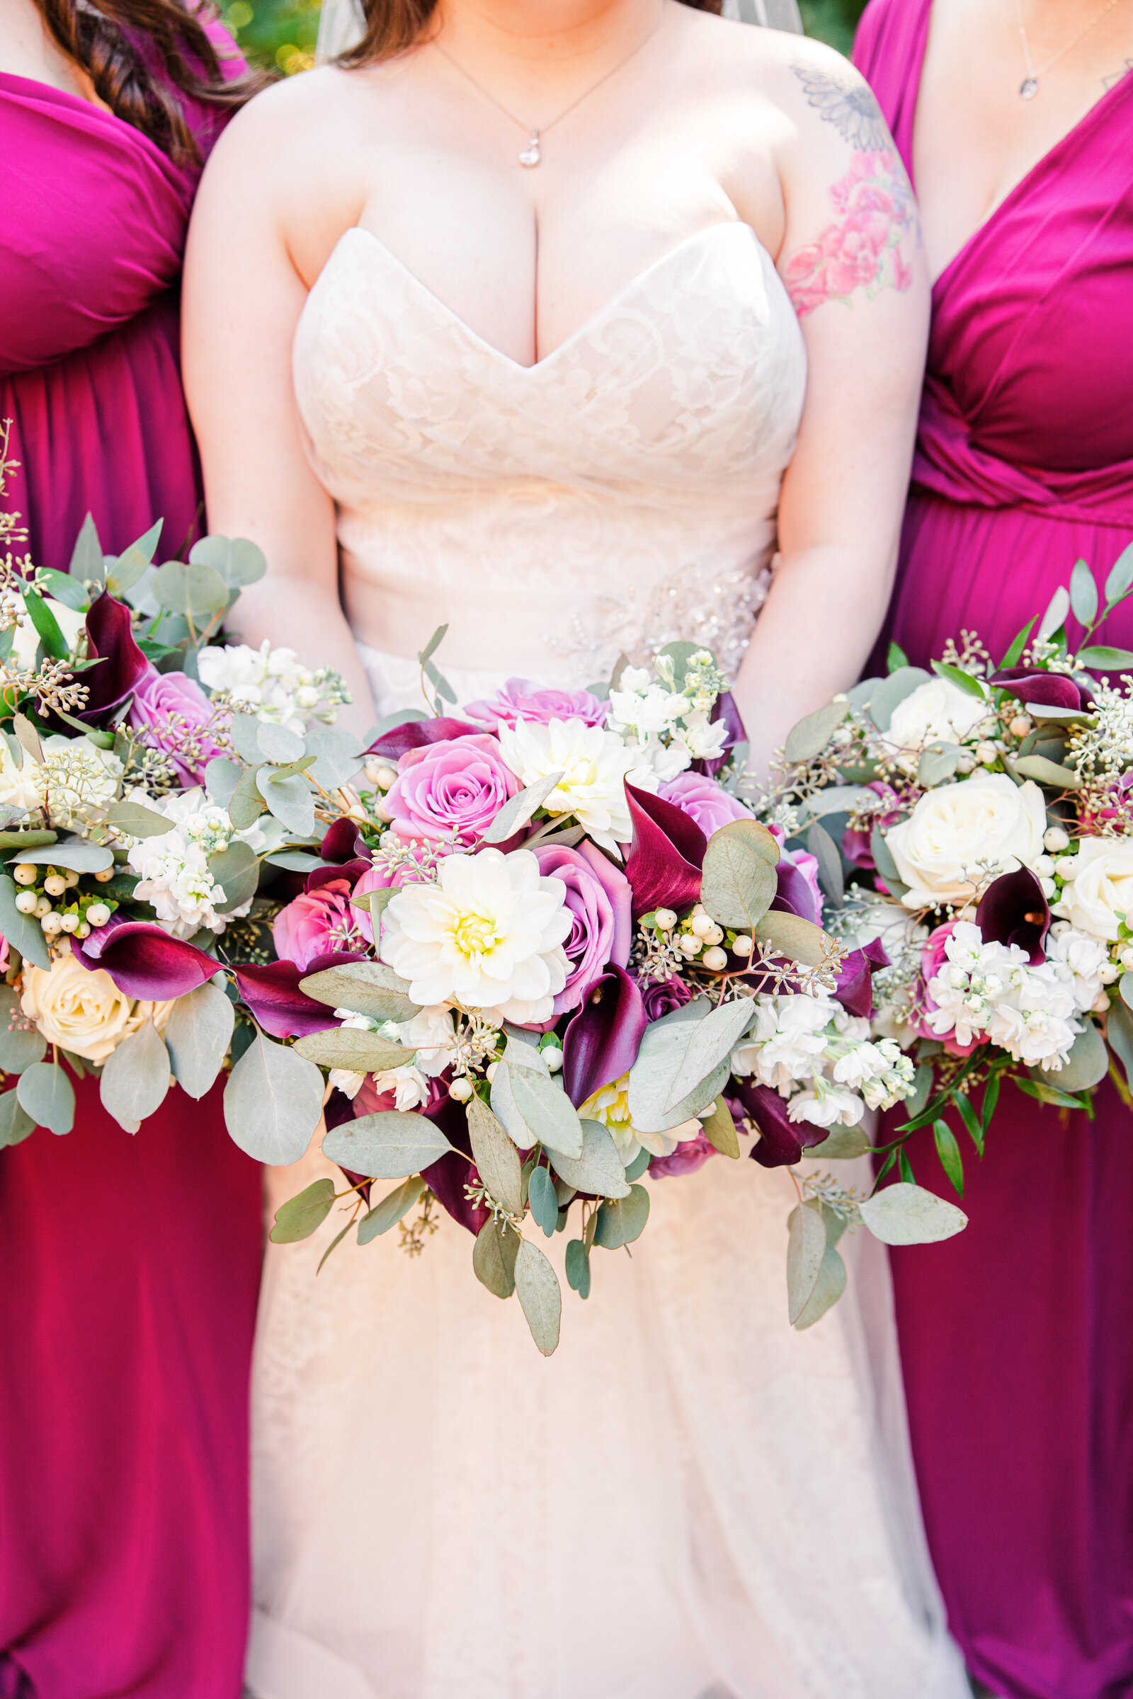
<path fill-rule="evenodd" d="M 192 938 L 200 928 L 223 933 L 229 921 L 248 912 L 251 897 L 219 914 L 217 906 L 228 899 L 209 870 L 209 856 L 228 850 L 234 841 L 258 851 L 267 843 L 263 833 L 258 826 L 234 831 L 224 809 L 209 802 L 200 787 L 165 797 L 161 804 L 146 797 L 146 807 L 165 814 L 173 829 L 161 838 L 141 838 L 132 844 L 129 865 L 141 873 L 134 897 L 153 904 L 158 924 L 173 938 Z"/>

